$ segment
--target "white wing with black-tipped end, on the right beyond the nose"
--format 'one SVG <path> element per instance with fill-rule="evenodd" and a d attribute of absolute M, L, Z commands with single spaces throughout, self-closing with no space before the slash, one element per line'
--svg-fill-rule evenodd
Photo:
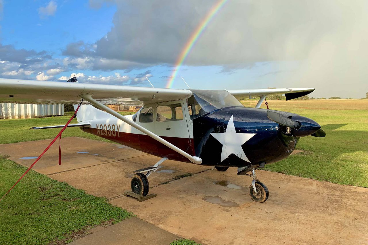
<path fill-rule="evenodd" d="M 286 100 L 295 99 L 304 95 L 308 95 L 314 91 L 314 88 L 285 88 L 285 89 L 237 89 L 227 90 L 237 99 L 244 99 L 248 96 L 257 97 L 264 95 L 283 95 Z"/>

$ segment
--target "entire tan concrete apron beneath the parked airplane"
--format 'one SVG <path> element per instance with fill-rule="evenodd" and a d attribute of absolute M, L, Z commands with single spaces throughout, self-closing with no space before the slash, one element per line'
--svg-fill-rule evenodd
<path fill-rule="evenodd" d="M 49 142 L 0 145 L 0 154 L 29 166 L 34 159 L 20 158 L 38 156 Z M 92 195 L 106 196 L 163 230 L 206 244 L 368 244 L 367 188 L 257 171 L 270 196 L 265 203 L 256 203 L 248 195 L 251 178 L 236 175 L 235 168 L 208 171 L 205 166 L 165 161 L 159 170 L 168 171 L 149 177 L 150 193 L 158 196 L 137 202 L 121 196 L 130 189 L 132 171 L 152 166 L 159 158 L 119 147 L 64 138 L 63 164 L 57 165 L 59 146 L 55 144 L 34 170 Z M 194 175 L 159 185 L 186 173 Z"/>

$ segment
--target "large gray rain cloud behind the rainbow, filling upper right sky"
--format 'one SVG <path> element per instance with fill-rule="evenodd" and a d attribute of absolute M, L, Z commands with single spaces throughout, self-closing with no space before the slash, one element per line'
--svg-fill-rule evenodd
<path fill-rule="evenodd" d="M 116 1 L 114 26 L 95 43 L 93 55 L 147 67 L 173 65 L 216 3 Z M 298 60 L 295 71 L 274 74 L 270 86 L 314 86 L 316 92 L 340 94 L 348 83 L 354 87 L 348 96 L 361 97 L 360 90 L 367 90 L 367 13 L 365 0 L 348 7 L 344 1 L 227 1 L 184 64 L 221 65 L 231 73 L 241 64 Z"/>

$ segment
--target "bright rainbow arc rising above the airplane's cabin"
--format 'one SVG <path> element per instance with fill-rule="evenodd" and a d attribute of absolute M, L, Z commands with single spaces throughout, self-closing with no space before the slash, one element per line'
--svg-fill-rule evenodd
<path fill-rule="evenodd" d="M 201 21 L 201 23 L 198 25 L 198 27 L 192 32 L 190 38 L 188 39 L 188 42 L 185 44 L 184 49 L 181 50 L 181 53 L 176 60 L 175 68 L 173 70 L 173 73 L 170 76 L 170 79 L 167 81 L 166 88 L 171 88 L 173 86 L 174 79 L 176 78 L 178 71 L 180 70 L 181 65 L 183 65 L 183 62 L 185 58 L 188 56 L 190 50 L 194 46 L 194 44 L 197 42 L 199 36 L 201 36 L 202 32 L 206 28 L 206 26 L 209 24 L 211 19 L 216 15 L 216 13 L 221 9 L 221 7 L 227 2 L 227 0 L 219 0 L 207 13 L 205 18 Z"/>

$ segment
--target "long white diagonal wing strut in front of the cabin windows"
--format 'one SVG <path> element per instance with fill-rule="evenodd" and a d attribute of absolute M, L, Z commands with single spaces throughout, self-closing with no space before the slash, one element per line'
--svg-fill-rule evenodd
<path fill-rule="evenodd" d="M 202 163 L 202 159 L 200 157 L 189 155 L 188 153 L 184 152 L 184 150 L 182 150 L 180 148 L 177 148 L 176 146 L 174 146 L 170 142 L 164 140 L 160 136 L 158 136 L 156 134 L 153 134 L 148 129 L 145 129 L 141 125 L 135 123 L 134 121 L 129 120 L 128 118 L 124 117 L 123 115 L 117 113 L 116 111 L 110 109 L 109 107 L 105 106 L 104 104 L 102 104 L 102 103 L 98 102 L 97 100 L 93 99 L 92 98 L 92 95 L 86 94 L 86 95 L 80 95 L 80 97 L 82 97 L 83 99 L 87 100 L 91 104 L 97 106 L 98 108 L 106 111 L 107 113 L 113 115 L 114 117 L 119 118 L 124 123 L 127 123 L 127 124 L 131 125 L 132 127 L 138 129 L 139 131 L 143 132 L 144 134 L 150 136 L 151 138 L 156 139 L 156 141 L 158 141 L 160 143 L 163 143 L 164 145 L 166 145 L 170 149 L 176 151 L 180 155 L 182 155 L 184 157 L 187 157 L 192 163 L 195 163 L 195 164 L 201 164 Z"/>

